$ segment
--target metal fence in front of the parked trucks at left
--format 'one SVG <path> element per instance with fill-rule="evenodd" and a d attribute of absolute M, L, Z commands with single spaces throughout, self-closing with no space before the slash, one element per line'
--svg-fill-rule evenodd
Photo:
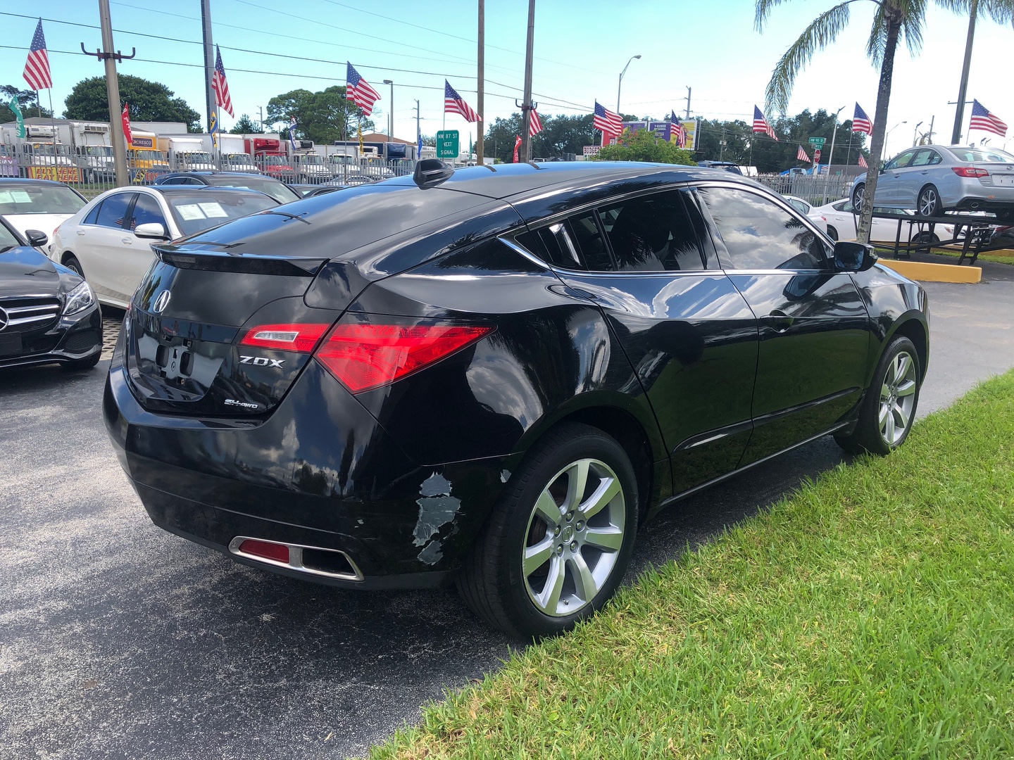
<path fill-rule="evenodd" d="M 260 155 L 245 153 L 178 153 L 128 151 L 131 184 L 153 184 L 170 171 L 246 171 L 290 184 L 365 184 L 412 174 L 416 162 L 356 159 L 345 155 Z M 24 144 L 0 145 L 0 176 L 53 179 L 91 199 L 116 186 L 116 164 L 108 146 Z"/>

